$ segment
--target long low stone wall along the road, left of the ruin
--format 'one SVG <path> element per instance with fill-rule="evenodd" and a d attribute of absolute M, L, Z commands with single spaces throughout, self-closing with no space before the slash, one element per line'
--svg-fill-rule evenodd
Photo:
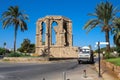
<path fill-rule="evenodd" d="M 4 57 L 3 61 L 10 61 L 10 62 L 41 62 L 41 61 L 48 61 L 48 58 L 42 57 Z"/>

